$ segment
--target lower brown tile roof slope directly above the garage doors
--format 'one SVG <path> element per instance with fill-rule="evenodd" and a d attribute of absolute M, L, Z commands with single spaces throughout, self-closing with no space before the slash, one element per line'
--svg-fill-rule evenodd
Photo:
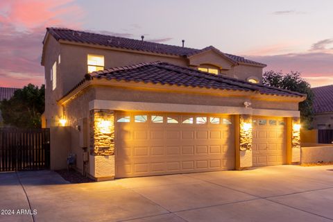
<path fill-rule="evenodd" d="M 108 80 L 114 79 L 126 82 L 134 81 L 137 83 L 205 87 L 207 89 L 240 90 L 280 96 L 305 96 L 286 89 L 248 83 L 244 80 L 223 75 L 208 74 L 197 69 L 180 67 L 167 62 L 144 62 L 125 67 L 115 67 L 93 72 L 90 76 L 92 78 L 106 78 Z"/>

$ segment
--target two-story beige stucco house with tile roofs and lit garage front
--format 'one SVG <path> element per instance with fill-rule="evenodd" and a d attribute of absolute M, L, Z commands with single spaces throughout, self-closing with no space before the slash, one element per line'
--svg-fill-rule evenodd
<path fill-rule="evenodd" d="M 96 180 L 300 160 L 305 95 L 261 85 L 262 63 L 213 46 L 47 28 L 42 65 L 46 125 L 70 134 L 51 134 L 53 162 L 68 140 L 76 168 Z"/>

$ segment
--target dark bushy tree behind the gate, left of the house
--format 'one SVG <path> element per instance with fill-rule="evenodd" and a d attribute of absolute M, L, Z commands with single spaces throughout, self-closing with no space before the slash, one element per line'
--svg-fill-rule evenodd
<path fill-rule="evenodd" d="M 17 89 L 9 100 L 1 101 L 3 123 L 18 128 L 40 128 L 45 108 L 44 89 L 44 85 L 38 88 L 28 84 L 23 89 Z"/>

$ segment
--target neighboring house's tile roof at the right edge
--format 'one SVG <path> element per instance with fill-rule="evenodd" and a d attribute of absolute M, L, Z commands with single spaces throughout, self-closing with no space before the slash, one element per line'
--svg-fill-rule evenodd
<path fill-rule="evenodd" d="M 333 112 L 333 85 L 312 88 L 314 113 Z"/>

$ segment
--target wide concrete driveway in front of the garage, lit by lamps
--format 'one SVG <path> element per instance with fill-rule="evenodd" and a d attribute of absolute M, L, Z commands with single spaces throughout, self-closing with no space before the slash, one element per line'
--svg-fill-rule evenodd
<path fill-rule="evenodd" d="M 15 210 L 0 221 L 333 221 L 333 166 L 76 185 L 52 171 L 0 173 L 0 197 L 0 210 Z"/>

